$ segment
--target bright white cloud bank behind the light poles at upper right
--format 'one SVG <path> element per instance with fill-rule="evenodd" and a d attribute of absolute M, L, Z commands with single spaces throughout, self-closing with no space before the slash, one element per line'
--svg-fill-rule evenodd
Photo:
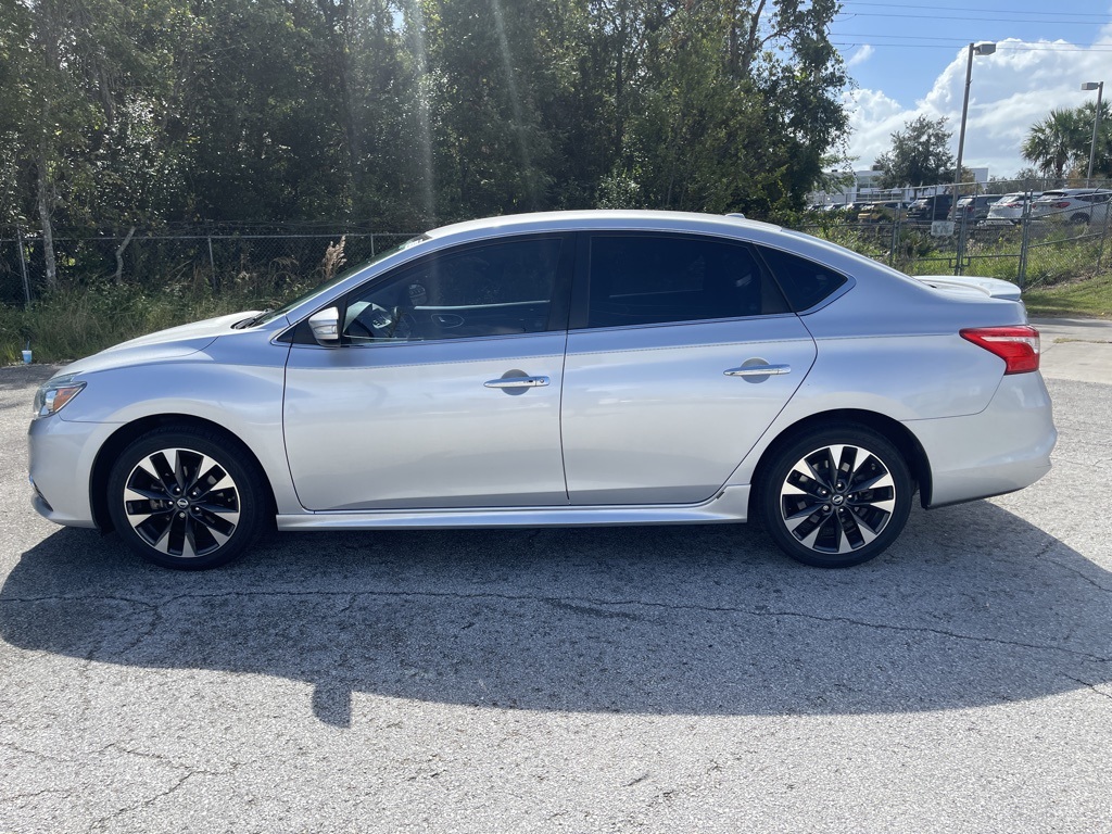
<path fill-rule="evenodd" d="M 1101 31 L 1096 42 L 1112 40 L 1112 24 Z M 1034 49 L 1032 49 L 1034 48 Z M 946 117 L 957 147 L 962 95 L 965 85 L 966 50 L 935 79 L 926 96 L 913 108 L 877 90 L 854 90 L 844 101 L 851 112 L 850 155 L 863 168 L 886 151 L 891 135 L 919 116 Z M 1093 98 L 1082 92 L 1083 81 L 1108 79 L 1112 85 L 1109 52 L 1076 47 L 1065 41 L 1037 43 L 1002 40 L 996 52 L 973 58 L 970 107 L 965 128 L 965 167 L 989 167 L 993 176 L 1006 177 L 1027 163 L 1020 146 L 1031 126 L 1054 108 L 1074 108 Z"/>

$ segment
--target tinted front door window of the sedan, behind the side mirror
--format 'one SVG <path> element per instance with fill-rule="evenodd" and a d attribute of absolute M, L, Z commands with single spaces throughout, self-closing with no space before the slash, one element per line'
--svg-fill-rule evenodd
<path fill-rule="evenodd" d="M 559 238 L 450 249 L 401 267 L 347 305 L 350 344 L 536 332 L 548 326 Z"/>

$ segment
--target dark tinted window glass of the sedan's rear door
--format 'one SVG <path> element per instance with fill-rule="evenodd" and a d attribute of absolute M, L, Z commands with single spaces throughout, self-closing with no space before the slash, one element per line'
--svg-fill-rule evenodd
<path fill-rule="evenodd" d="M 589 276 L 587 327 L 787 311 L 752 249 L 715 238 L 598 235 Z"/>

